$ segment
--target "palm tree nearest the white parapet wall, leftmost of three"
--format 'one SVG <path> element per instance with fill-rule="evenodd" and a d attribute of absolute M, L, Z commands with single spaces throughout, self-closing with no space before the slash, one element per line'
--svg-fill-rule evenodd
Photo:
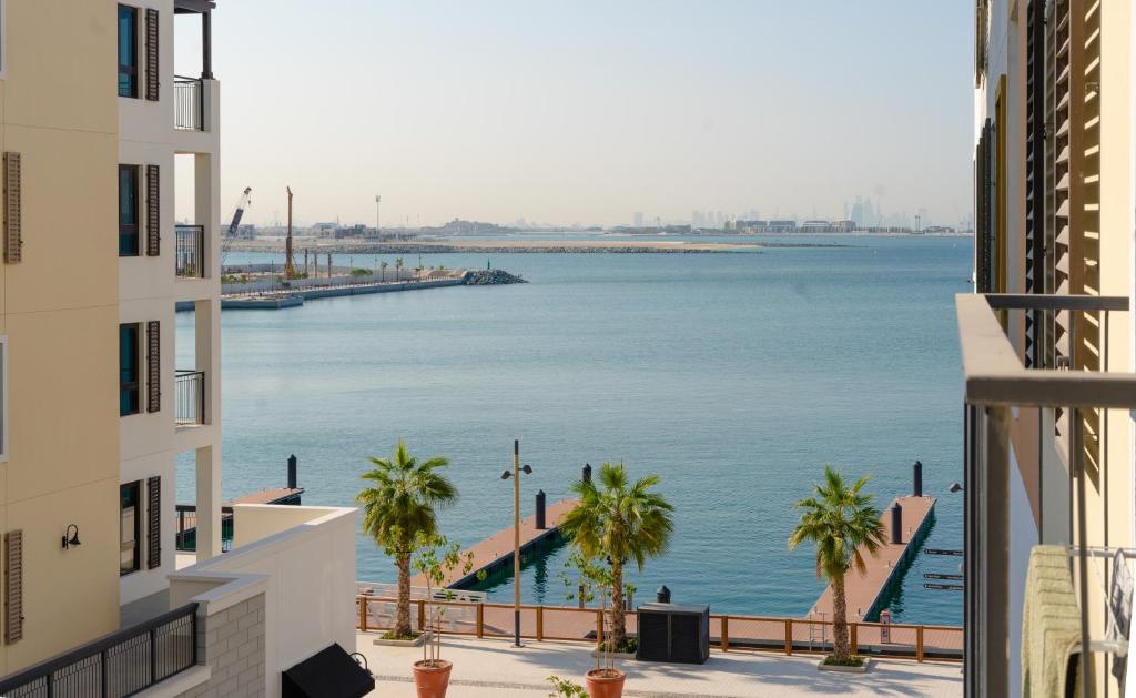
<path fill-rule="evenodd" d="M 410 635 L 410 556 L 419 537 L 437 534 L 436 510 L 458 500 L 458 490 L 437 471 L 450 465 L 441 456 L 425 463 L 399 441 L 393 458 L 368 458 L 375 467 L 362 474 L 367 481 L 356 497 L 364 508 L 362 527 L 394 558 L 399 568 L 399 604 L 394 637 Z"/>

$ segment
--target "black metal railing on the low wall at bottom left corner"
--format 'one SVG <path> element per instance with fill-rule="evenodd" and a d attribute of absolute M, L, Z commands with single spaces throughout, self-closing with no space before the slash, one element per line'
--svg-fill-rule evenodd
<path fill-rule="evenodd" d="M 119 630 L 0 681 L 7 698 L 123 698 L 198 663 L 198 605 Z"/>

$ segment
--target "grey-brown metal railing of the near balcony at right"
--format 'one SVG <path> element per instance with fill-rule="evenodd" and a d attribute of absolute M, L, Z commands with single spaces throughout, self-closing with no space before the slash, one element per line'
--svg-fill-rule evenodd
<path fill-rule="evenodd" d="M 1008 609 L 1011 605 L 1010 588 L 1010 468 L 1017 460 L 1022 481 L 1045 482 L 1049 492 L 1041 498 L 1039 516 L 1049 522 L 1041 531 L 1043 543 L 1067 543 L 1072 560 L 1071 576 L 1077 582 L 1077 604 L 1080 615 L 1080 656 L 1092 657 L 1103 643 L 1091 634 L 1091 617 L 1105 615 L 1101 598 L 1089 598 L 1089 589 L 1095 581 L 1088 572 L 1088 559 L 1101 548 L 1099 541 L 1091 542 L 1089 535 L 1106 530 L 1106 525 L 1095 524 L 1089 529 L 1086 510 L 1086 488 L 1089 477 L 1086 470 L 1091 463 L 1092 449 L 1086 444 L 1096 439 L 1097 431 L 1091 425 L 1093 419 L 1103 418 L 1105 410 L 1130 410 L 1136 408 L 1136 373 L 1071 369 L 1077 362 L 1056 362 L 1054 367 L 1027 368 L 1011 344 L 1005 327 L 1016 327 L 1019 314 L 1034 316 L 1037 326 L 1052 323 L 1056 314 L 1079 315 L 1078 322 L 1086 326 L 1101 326 L 1108 335 L 1109 314 L 1127 311 L 1129 300 L 1122 297 L 1100 296 L 1042 296 L 1042 294 L 974 294 L 961 293 L 955 298 L 959 316 L 959 334 L 962 348 L 964 376 L 964 458 L 966 483 L 963 490 L 966 548 L 964 570 L 964 623 L 966 626 L 966 695 L 971 697 L 1004 696 L 1009 691 L 1010 665 L 1008 647 L 1010 637 L 1017 629 L 1010 628 Z M 1089 322 L 1087 318 L 1092 318 Z M 1068 338 L 1067 349 L 1079 358 L 1083 349 L 1076 336 Z M 1060 367 L 1059 367 L 1060 366 Z M 1036 417 L 1026 416 L 1018 408 L 1036 408 Z M 1062 433 L 1061 416 L 1069 425 Z M 1092 416 L 1093 419 L 1087 417 Z M 1022 452 L 1013 451 L 1011 432 L 1017 422 L 1036 418 L 1037 432 L 1033 435 L 1033 447 Z M 1054 430 L 1054 424 L 1058 429 Z M 1067 434 L 1067 435 L 1066 435 Z M 1049 439 L 1054 449 L 1037 448 L 1036 439 Z M 1068 448 L 1061 449 L 1061 440 L 1068 440 Z M 1041 452 L 1027 462 L 1024 454 Z M 1058 460 L 1044 454 L 1058 455 Z M 1068 466 L 1066 462 L 1068 460 Z M 1105 467 L 1097 464 L 1096 467 Z M 1113 465 L 1117 467 L 1117 465 Z M 1120 464 L 1124 467 L 1124 464 Z M 1095 467 L 1094 467 L 1095 470 Z M 1126 473 L 1121 476 L 1127 477 Z M 1106 473 L 1097 471 L 1096 477 L 1106 479 Z M 1105 480 L 1106 481 L 1106 480 Z M 1060 492 L 1051 489 L 1059 484 Z M 1042 487 L 1041 484 L 1037 485 Z M 1095 487 L 1094 487 L 1095 490 Z M 1046 510 L 1046 502 L 1059 510 Z M 1105 512 L 1106 512 L 1106 507 Z M 1093 514 L 1099 512 L 1094 510 Z M 1104 514 L 1106 515 L 1106 513 Z M 1059 524 L 1055 522 L 1068 522 Z M 1061 531 L 1046 539 L 1046 530 L 1060 526 Z M 1112 554 L 1117 549 L 1110 549 Z M 1017 560 L 1020 563 L 1021 560 Z M 1096 601 L 1096 605 L 1091 605 Z M 1025 641 L 1025 639 L 1024 639 Z M 1096 666 L 1097 662 L 1080 662 L 1080 665 Z M 1080 696 L 1094 695 L 1094 674 L 1088 671 L 1080 683 Z"/>

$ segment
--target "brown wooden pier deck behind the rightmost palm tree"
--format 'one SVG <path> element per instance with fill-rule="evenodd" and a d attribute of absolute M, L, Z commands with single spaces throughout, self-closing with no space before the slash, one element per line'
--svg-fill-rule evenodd
<path fill-rule="evenodd" d="M 868 573 L 861 576 L 853 571 L 845 577 L 849 621 L 875 621 L 878 617 L 883 610 L 882 604 L 887 598 L 887 590 L 900 581 L 901 572 L 930 529 L 936 501 L 934 497 L 896 497 L 884 509 L 884 535 L 887 541 L 892 540 L 892 505 L 896 501 L 903 508 L 903 542 L 888 542 L 880 549 L 878 557 L 864 552 Z M 833 618 L 832 585 L 813 604 L 809 616 L 829 621 Z"/>

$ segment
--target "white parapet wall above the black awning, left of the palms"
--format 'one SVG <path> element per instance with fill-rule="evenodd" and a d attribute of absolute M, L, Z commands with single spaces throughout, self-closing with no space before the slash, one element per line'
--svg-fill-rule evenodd
<path fill-rule="evenodd" d="M 332 643 L 356 650 L 353 508 L 233 507 L 233 549 L 169 575 L 169 603 L 222 606 L 264 584 L 265 695 L 281 695 L 281 672 Z"/>

